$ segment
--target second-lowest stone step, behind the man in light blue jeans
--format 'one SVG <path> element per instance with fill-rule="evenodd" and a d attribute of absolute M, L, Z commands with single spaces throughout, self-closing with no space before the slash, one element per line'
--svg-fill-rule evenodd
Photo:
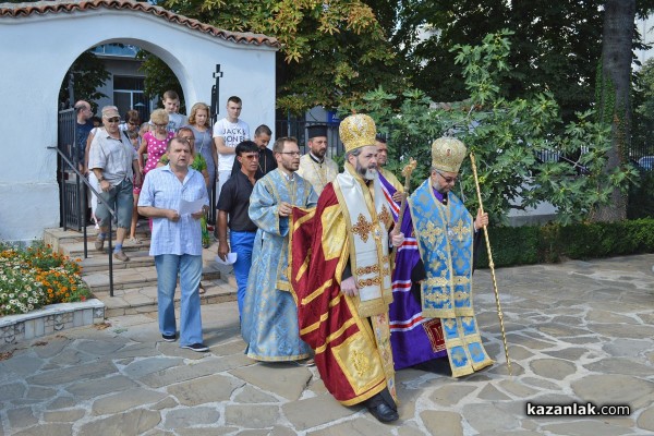
<path fill-rule="evenodd" d="M 220 278 L 220 271 L 213 265 L 207 265 L 203 267 L 202 277 L 203 280 L 216 280 Z M 89 274 L 84 274 L 82 279 L 94 294 L 97 292 L 109 292 L 109 271 L 92 271 Z M 114 292 L 117 290 L 137 289 L 156 284 L 157 270 L 154 266 L 113 270 Z"/>

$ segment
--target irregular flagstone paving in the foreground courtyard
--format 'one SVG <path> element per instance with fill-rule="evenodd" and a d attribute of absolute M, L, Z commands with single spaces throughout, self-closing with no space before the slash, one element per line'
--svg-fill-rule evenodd
<path fill-rule="evenodd" d="M 497 363 L 461 379 L 398 372 L 390 425 L 338 404 L 315 367 L 247 359 L 229 302 L 203 306 L 205 354 L 162 342 L 152 314 L 0 348 L 0 434 L 651 435 L 653 265 L 646 254 L 498 269 L 512 376 L 491 275 L 477 271 L 479 322 Z M 589 401 L 630 414 L 526 415 L 528 402 Z"/>

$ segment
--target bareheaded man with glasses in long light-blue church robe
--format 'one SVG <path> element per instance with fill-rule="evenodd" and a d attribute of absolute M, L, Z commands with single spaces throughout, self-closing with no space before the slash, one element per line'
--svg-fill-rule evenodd
<path fill-rule="evenodd" d="M 298 308 L 288 277 L 290 215 L 293 207 L 312 208 L 317 195 L 295 172 L 300 148 L 294 137 L 280 137 L 272 153 L 277 169 L 259 179 L 250 196 L 250 219 L 258 227 L 252 252 L 241 335 L 245 353 L 257 361 L 301 361 L 311 348 L 298 328 Z"/>

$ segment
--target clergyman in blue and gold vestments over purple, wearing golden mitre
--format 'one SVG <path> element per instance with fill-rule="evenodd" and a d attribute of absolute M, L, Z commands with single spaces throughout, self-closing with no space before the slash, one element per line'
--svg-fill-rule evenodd
<path fill-rule="evenodd" d="M 480 209 L 473 219 L 451 192 L 465 154 L 459 140 L 436 140 L 431 174 L 408 198 L 390 305 L 396 370 L 433 371 L 447 358 L 460 377 L 493 364 L 472 304 L 473 251 L 488 215 Z"/>

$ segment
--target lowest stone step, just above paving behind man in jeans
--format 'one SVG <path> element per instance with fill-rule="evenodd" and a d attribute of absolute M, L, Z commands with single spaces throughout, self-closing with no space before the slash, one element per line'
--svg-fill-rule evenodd
<path fill-rule="evenodd" d="M 237 300 L 237 289 L 221 279 L 203 280 L 205 293 L 201 294 L 202 304 L 219 304 Z M 149 284 L 137 289 L 114 290 L 113 296 L 109 292 L 94 292 L 95 296 L 105 303 L 105 316 L 123 316 L 136 314 L 157 313 L 157 286 Z M 180 305 L 180 288 L 174 295 L 175 307 Z"/>

